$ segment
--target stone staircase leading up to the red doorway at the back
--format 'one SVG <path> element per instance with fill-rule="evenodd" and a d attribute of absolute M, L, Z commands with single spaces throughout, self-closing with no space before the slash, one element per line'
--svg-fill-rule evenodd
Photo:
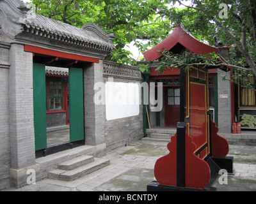
<path fill-rule="evenodd" d="M 175 135 L 176 128 L 151 128 L 147 129 L 147 137 L 143 140 L 156 141 L 156 142 L 170 142 L 171 137 Z"/>

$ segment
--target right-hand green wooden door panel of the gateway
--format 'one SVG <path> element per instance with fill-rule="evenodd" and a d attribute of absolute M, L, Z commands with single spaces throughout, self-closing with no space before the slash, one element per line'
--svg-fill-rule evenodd
<path fill-rule="evenodd" d="M 70 142 L 84 139 L 83 69 L 69 69 Z"/>

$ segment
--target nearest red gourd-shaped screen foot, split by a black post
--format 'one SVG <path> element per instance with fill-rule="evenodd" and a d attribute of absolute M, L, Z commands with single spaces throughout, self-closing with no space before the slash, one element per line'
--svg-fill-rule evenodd
<path fill-rule="evenodd" d="M 177 134 L 171 138 L 167 148 L 170 153 L 157 159 L 155 164 L 155 177 L 157 182 L 167 186 L 177 186 Z M 204 188 L 209 184 L 211 171 L 209 165 L 195 156 L 195 143 L 186 133 L 186 187 Z"/>

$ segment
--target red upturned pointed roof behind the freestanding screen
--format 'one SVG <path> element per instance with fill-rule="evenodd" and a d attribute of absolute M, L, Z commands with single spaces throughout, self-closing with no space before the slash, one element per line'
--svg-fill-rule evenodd
<path fill-rule="evenodd" d="M 177 43 L 180 43 L 195 54 L 204 55 L 212 52 L 218 53 L 218 48 L 201 43 L 186 33 L 182 29 L 181 25 L 177 25 L 174 31 L 167 38 L 150 50 L 143 52 L 143 55 L 147 61 L 155 61 L 162 56 L 162 54 L 157 52 L 157 50 L 171 50 Z"/>

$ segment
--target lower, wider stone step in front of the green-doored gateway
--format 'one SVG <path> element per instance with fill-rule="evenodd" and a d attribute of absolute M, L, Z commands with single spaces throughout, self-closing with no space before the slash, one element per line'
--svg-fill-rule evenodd
<path fill-rule="evenodd" d="M 49 179 L 72 181 L 78 179 L 79 177 L 83 177 L 83 175 L 99 170 L 104 166 L 108 166 L 109 164 L 109 159 L 95 158 L 93 162 L 84 164 L 83 166 L 79 166 L 77 168 L 74 168 L 73 170 L 56 169 L 49 171 Z"/>

